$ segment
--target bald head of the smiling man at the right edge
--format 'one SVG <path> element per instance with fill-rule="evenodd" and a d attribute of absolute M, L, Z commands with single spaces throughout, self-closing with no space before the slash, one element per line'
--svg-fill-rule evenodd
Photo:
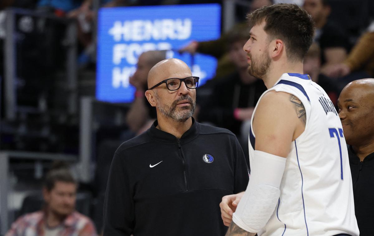
<path fill-rule="evenodd" d="M 374 79 L 355 80 L 347 84 L 338 99 L 339 117 L 347 144 L 374 143 Z"/>

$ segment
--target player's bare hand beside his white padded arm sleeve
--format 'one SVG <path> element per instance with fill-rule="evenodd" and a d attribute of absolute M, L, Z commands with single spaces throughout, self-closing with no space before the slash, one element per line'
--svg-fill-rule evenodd
<path fill-rule="evenodd" d="M 239 201 L 243 195 L 244 192 L 241 192 L 233 195 L 227 195 L 222 198 L 220 208 L 221 217 L 225 226 L 230 226 L 233 219 L 233 213 L 235 212 L 237 204 L 239 204 Z"/>

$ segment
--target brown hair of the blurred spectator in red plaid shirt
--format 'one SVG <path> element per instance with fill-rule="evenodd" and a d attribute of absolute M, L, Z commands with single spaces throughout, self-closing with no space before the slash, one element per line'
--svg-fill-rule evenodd
<path fill-rule="evenodd" d="M 56 182 L 73 183 L 77 184 L 68 165 L 64 162 L 55 162 L 51 170 L 48 171 L 44 180 L 44 187 L 50 191 L 55 187 Z"/>

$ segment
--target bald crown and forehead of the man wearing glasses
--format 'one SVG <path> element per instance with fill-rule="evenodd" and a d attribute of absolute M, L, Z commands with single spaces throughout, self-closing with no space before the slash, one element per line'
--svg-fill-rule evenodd
<path fill-rule="evenodd" d="M 154 65 L 148 73 L 148 88 L 168 78 L 186 78 L 192 76 L 190 68 L 182 60 L 170 58 Z"/>

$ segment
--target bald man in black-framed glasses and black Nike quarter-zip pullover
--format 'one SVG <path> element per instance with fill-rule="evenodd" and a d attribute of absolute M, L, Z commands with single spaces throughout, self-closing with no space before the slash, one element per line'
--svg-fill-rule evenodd
<path fill-rule="evenodd" d="M 145 96 L 157 120 L 114 155 L 104 235 L 225 234 L 218 204 L 245 190 L 248 168 L 233 133 L 192 118 L 198 82 L 179 59 L 150 70 Z"/>

